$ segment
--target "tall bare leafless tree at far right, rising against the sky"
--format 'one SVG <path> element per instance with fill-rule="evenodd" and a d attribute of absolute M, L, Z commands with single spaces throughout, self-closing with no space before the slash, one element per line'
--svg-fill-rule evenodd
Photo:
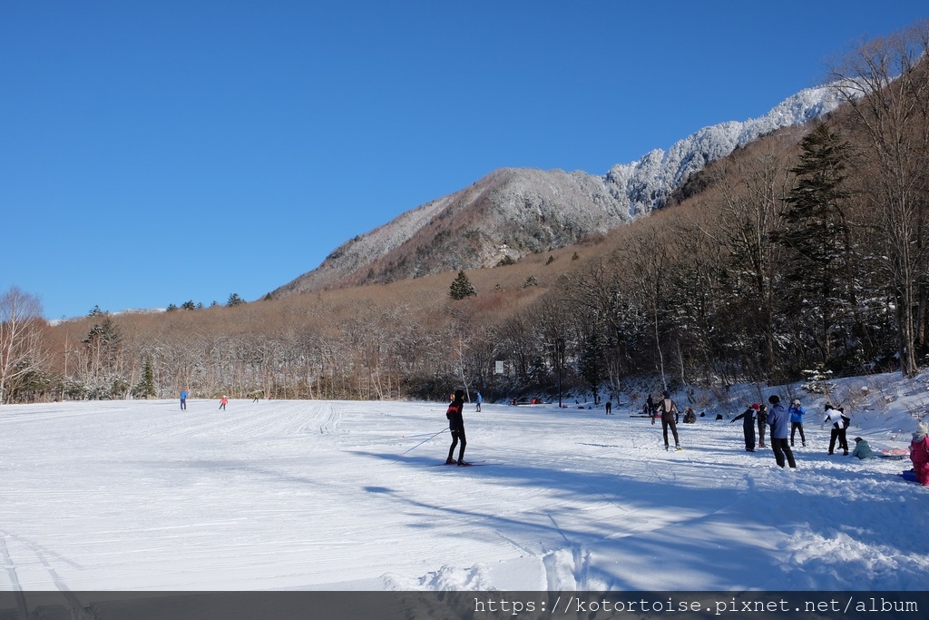
<path fill-rule="evenodd" d="M 929 21 L 858 46 L 832 70 L 864 137 L 873 171 L 867 195 L 883 232 L 883 269 L 896 297 L 898 353 L 905 376 L 917 372 L 919 286 L 926 267 L 929 149 Z"/>

